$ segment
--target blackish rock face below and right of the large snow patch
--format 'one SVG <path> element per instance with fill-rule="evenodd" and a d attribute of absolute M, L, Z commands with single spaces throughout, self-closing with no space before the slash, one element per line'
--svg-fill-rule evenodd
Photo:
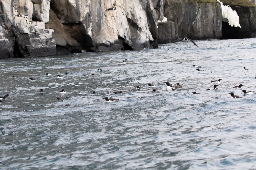
<path fill-rule="evenodd" d="M 230 6 L 237 11 L 239 27 L 231 27 L 227 22 L 222 22 L 222 39 L 253 38 L 256 37 L 256 12 L 254 7 Z"/>

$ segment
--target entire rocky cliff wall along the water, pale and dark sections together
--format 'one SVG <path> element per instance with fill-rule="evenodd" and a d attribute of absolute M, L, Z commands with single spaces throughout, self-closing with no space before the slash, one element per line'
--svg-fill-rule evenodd
<path fill-rule="evenodd" d="M 0 58 L 158 48 L 178 37 L 203 40 L 232 31 L 255 37 L 255 4 L 232 8 L 242 30 L 222 30 L 216 0 L 0 0 Z"/>

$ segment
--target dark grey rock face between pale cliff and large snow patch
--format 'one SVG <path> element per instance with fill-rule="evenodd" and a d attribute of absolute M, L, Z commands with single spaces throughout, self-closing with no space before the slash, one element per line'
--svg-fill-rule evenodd
<path fill-rule="evenodd" d="M 222 16 L 219 3 L 167 0 L 164 4 L 164 16 L 167 17 L 167 21 L 177 24 L 172 27 L 167 24 L 167 28 L 164 29 L 164 31 L 169 30 L 168 27 L 171 27 L 172 37 L 169 41 L 174 41 L 177 37 L 204 40 L 222 36 Z"/>

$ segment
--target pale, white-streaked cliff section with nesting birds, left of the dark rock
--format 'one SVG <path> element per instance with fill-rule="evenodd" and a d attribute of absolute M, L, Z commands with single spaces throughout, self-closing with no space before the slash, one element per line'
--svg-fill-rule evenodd
<path fill-rule="evenodd" d="M 0 1 L 0 58 L 157 48 L 161 2 Z"/>

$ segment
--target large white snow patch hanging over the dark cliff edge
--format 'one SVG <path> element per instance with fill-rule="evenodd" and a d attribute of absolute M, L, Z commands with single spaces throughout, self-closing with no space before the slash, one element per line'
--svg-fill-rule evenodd
<path fill-rule="evenodd" d="M 237 15 L 237 11 L 233 11 L 231 7 L 228 5 L 223 5 L 220 0 L 217 0 L 221 5 L 222 10 L 222 21 L 228 22 L 231 27 L 239 27 L 241 28 L 241 25 L 239 24 L 239 16 Z"/>

